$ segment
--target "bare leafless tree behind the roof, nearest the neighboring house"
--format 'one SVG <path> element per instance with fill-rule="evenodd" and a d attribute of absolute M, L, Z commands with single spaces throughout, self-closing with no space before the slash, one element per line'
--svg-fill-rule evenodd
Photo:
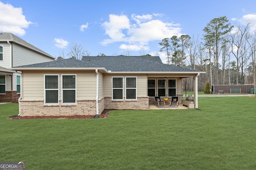
<path fill-rule="evenodd" d="M 68 57 L 76 58 L 78 60 L 81 60 L 84 55 L 89 56 L 90 52 L 84 51 L 83 46 L 81 44 L 72 43 L 72 45 L 69 48 Z"/>

